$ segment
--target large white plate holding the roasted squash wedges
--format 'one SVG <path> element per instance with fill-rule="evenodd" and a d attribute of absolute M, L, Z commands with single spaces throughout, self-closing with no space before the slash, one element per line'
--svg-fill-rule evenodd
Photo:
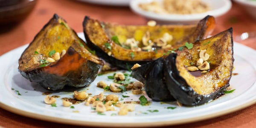
<path fill-rule="evenodd" d="M 79 36 L 83 38 L 82 33 Z M 0 107 L 35 119 L 99 127 L 153 127 L 209 119 L 256 103 L 256 60 L 254 58 L 256 51 L 238 43 L 234 44 L 235 70 L 233 72 L 238 75 L 232 76 L 230 81 L 232 89 L 236 89 L 233 93 L 197 107 L 178 107 L 173 102 L 165 104 L 152 102 L 149 106 L 136 105 L 135 111 L 129 112 L 126 116 L 118 116 L 118 108 L 116 108 L 117 111 L 108 111 L 106 115 L 99 115 L 84 103 L 73 105 L 75 108 L 63 107 L 61 98 L 72 98 L 71 90 L 52 92 L 51 96 L 61 96 L 57 98 L 57 107 L 45 104 L 45 96 L 42 93 L 47 90 L 24 79 L 17 71 L 18 58 L 26 47 L 27 45 L 19 47 L 0 57 Z M 107 78 L 110 75 L 113 73 L 98 76 L 89 87 L 77 90 L 87 90 L 88 93 L 98 95 L 103 89 L 96 87 L 96 83 L 101 80 L 111 83 L 112 80 Z M 18 95 L 17 91 L 21 95 Z M 104 93 L 108 95 L 111 92 Z M 116 94 L 119 95 L 119 99 L 122 98 L 121 95 L 130 96 L 122 98 L 123 101 L 139 101 L 140 97 L 129 91 Z M 177 108 L 167 109 L 167 107 Z M 158 110 L 158 112 L 150 112 L 150 110 Z"/>

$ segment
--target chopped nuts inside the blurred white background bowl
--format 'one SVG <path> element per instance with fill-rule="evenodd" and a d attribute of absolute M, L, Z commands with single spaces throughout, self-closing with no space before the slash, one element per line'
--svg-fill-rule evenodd
<path fill-rule="evenodd" d="M 159 14 L 195 14 L 210 10 L 210 6 L 201 0 L 163 0 L 151 3 L 140 3 L 139 7 L 145 11 Z"/>

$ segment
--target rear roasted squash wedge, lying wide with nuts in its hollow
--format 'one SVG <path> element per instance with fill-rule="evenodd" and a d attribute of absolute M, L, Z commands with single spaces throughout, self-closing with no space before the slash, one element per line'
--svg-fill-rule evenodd
<path fill-rule="evenodd" d="M 88 47 L 96 50 L 96 55 L 127 70 L 136 63 L 154 61 L 185 42 L 202 40 L 214 29 L 215 19 L 207 16 L 198 25 L 132 26 L 104 23 L 86 16 L 83 27 Z"/>

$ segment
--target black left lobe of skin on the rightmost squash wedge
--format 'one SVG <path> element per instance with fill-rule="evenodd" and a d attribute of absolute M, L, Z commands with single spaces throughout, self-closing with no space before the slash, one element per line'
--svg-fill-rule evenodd
<path fill-rule="evenodd" d="M 154 101 L 175 100 L 167 90 L 164 80 L 163 58 L 143 64 L 132 71 L 132 77 L 145 83 L 144 89 L 148 97 Z"/>

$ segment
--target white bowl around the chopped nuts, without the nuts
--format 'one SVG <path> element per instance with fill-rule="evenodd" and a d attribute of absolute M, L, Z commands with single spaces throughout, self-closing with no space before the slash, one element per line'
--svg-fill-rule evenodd
<path fill-rule="evenodd" d="M 231 9 L 232 2 L 230 0 L 202 0 L 204 3 L 209 4 L 211 10 L 198 13 L 198 14 L 157 14 L 154 12 L 148 12 L 141 9 L 138 5 L 140 3 L 150 3 L 153 0 L 131 0 L 130 8 L 138 15 L 146 17 L 148 20 L 155 20 L 157 23 L 167 24 L 195 24 L 207 15 L 212 15 L 215 18 L 224 15 Z M 157 0 L 162 2 L 162 0 Z"/>

